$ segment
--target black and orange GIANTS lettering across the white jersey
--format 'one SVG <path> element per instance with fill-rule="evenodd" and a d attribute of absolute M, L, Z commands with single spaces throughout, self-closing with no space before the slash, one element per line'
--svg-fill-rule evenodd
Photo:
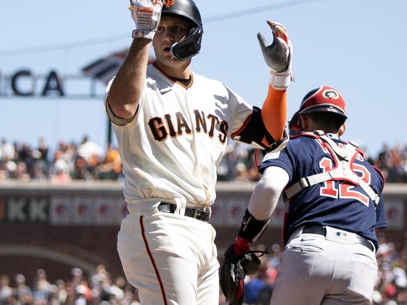
<path fill-rule="evenodd" d="M 225 120 L 221 120 L 214 114 L 209 114 L 205 117 L 205 113 L 203 113 L 203 111 L 199 113 L 198 110 L 194 110 L 194 114 L 196 132 L 200 133 L 201 131 L 203 131 L 203 133 L 208 134 L 210 138 L 213 138 L 215 135 L 215 130 L 218 130 L 219 141 L 222 144 L 226 142 L 227 131 L 229 127 Z M 171 138 L 181 136 L 184 131 L 186 134 L 192 133 L 192 128 L 188 125 L 188 122 L 182 112 L 176 112 L 174 119 L 171 117 L 170 114 L 165 114 L 164 119 L 158 116 L 153 117 L 149 120 L 148 125 L 154 136 L 154 139 L 157 141 L 165 140 L 168 135 Z M 210 126 L 209 130 L 208 126 Z"/>

